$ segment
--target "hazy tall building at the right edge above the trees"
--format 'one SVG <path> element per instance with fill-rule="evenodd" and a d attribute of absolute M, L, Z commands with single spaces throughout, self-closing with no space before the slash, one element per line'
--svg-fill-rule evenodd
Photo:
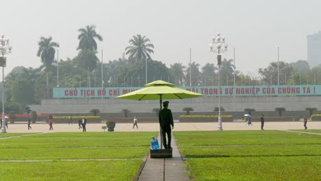
<path fill-rule="evenodd" d="M 321 64 L 321 31 L 307 36 L 307 62 L 311 68 Z"/>

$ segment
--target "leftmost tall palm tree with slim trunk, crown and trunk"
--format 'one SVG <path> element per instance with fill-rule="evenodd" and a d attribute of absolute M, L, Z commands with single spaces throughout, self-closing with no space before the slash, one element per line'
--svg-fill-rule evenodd
<path fill-rule="evenodd" d="M 43 62 L 46 67 L 46 76 L 47 76 L 47 98 L 49 98 L 49 83 L 48 83 L 48 69 L 51 66 L 53 59 L 55 58 L 55 47 L 59 47 L 59 44 L 51 41 L 51 36 L 49 38 L 45 38 L 43 36 L 40 37 L 40 41 L 38 42 L 39 49 L 37 52 L 37 56 L 41 58 L 41 62 Z"/>

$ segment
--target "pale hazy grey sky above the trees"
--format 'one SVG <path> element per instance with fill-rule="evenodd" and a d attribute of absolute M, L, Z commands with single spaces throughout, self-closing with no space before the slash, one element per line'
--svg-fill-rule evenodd
<path fill-rule="evenodd" d="M 95 25 L 103 38 L 104 62 L 121 57 L 133 35 L 154 44 L 154 60 L 169 67 L 173 62 L 213 63 L 211 37 L 220 32 L 237 70 L 257 75 L 259 68 L 277 61 L 307 60 L 307 35 L 321 30 L 320 0 L 117 0 L 1 1 L 0 33 L 10 39 L 5 74 L 16 66 L 38 67 L 40 36 L 52 36 L 60 44 L 59 58 L 77 55 L 78 29 Z"/>

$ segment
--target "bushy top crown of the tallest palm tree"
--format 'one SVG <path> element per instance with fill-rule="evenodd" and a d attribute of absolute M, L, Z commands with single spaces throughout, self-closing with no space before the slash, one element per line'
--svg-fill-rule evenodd
<path fill-rule="evenodd" d="M 97 34 L 95 30 L 95 25 L 86 25 L 85 28 L 78 29 L 80 35 L 78 35 L 79 45 L 77 49 L 89 49 L 89 50 L 97 50 L 96 38 L 99 41 L 102 41 L 103 38 L 99 34 Z"/>

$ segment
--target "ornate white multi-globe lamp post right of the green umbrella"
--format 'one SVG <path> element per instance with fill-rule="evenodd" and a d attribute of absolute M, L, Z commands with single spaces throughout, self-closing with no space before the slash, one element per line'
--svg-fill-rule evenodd
<path fill-rule="evenodd" d="M 218 97 L 219 97 L 219 114 L 218 114 L 218 123 L 219 125 L 217 126 L 218 130 L 223 130 L 222 127 L 222 116 L 221 116 L 221 75 L 220 75 L 220 65 L 222 62 L 222 56 L 219 53 L 224 53 L 228 49 L 228 45 L 225 44 L 225 37 L 220 36 L 219 32 L 217 32 L 216 36 L 212 37 L 212 43 L 209 45 L 211 51 L 213 53 L 217 53 L 216 55 L 216 64 L 219 67 L 219 90 L 218 90 Z M 224 47 L 224 49 L 222 49 Z"/>

